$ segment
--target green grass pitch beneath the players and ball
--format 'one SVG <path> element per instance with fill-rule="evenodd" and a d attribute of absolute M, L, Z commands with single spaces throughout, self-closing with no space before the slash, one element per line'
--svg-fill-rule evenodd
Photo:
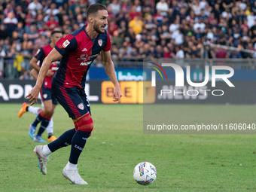
<path fill-rule="evenodd" d="M 202 108 L 193 108 L 197 106 Z M 217 108 L 203 106 L 212 113 Z M 255 135 L 144 135 L 142 105 L 91 105 L 94 130 L 78 161 L 88 185 L 62 178 L 70 147 L 51 154 L 47 175 L 42 175 L 32 152 L 37 144 L 28 136 L 35 115 L 18 118 L 20 107 L 0 104 L 0 191 L 256 191 Z M 173 105 L 175 110 L 191 107 Z M 220 107 L 223 114 L 244 110 L 241 119 L 248 120 L 248 115 L 255 119 L 253 105 Z M 209 118 L 208 113 L 202 115 Z M 221 116 L 220 120 L 233 121 L 232 116 Z M 73 127 L 60 105 L 53 120 L 55 136 Z M 149 186 L 133 180 L 133 169 L 142 161 L 157 169 L 157 180 Z"/>

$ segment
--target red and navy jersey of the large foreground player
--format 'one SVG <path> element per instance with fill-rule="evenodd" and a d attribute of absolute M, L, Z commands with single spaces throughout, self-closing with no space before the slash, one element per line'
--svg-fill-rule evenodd
<path fill-rule="evenodd" d="M 60 38 L 55 45 L 56 50 L 63 56 L 54 77 L 59 86 L 84 88 L 87 71 L 93 60 L 101 50 L 111 49 L 108 32 L 91 39 L 85 28 L 83 26 L 65 38 Z"/>

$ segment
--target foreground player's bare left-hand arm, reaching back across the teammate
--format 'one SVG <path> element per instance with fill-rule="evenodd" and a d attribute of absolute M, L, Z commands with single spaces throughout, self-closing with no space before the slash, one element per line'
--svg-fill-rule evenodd
<path fill-rule="evenodd" d="M 26 98 L 28 98 L 29 101 L 32 102 L 30 105 L 33 105 L 35 102 L 37 102 L 41 85 L 44 82 L 44 78 L 48 72 L 48 69 L 50 68 L 50 64 L 61 58 L 62 58 L 62 55 L 55 48 L 53 48 L 53 50 L 49 53 L 49 55 L 44 58 L 44 62 L 39 71 L 38 80 L 36 81 L 35 87 L 33 87 L 29 95 L 26 96 Z"/>

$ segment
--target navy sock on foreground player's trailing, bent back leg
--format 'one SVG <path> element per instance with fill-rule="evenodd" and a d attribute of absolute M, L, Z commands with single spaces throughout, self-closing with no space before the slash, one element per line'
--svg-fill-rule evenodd
<path fill-rule="evenodd" d="M 59 136 L 58 139 L 55 141 L 49 143 L 47 146 L 49 147 L 50 151 L 54 152 L 59 148 L 63 148 L 66 146 L 71 145 L 72 138 L 75 134 L 75 128 L 72 130 L 67 130 L 65 133 L 63 133 L 61 136 Z"/>

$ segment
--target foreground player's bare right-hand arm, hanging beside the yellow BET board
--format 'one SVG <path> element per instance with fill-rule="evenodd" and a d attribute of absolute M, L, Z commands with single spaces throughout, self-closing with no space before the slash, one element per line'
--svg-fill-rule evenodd
<path fill-rule="evenodd" d="M 110 50 L 108 51 L 102 50 L 100 52 L 100 56 L 102 57 L 102 64 L 104 66 L 105 72 L 108 75 L 108 78 L 110 78 L 110 80 L 114 84 L 114 95 L 113 95 L 114 100 L 113 101 L 117 102 L 122 96 L 122 93 L 120 90 L 119 83 L 117 81 L 117 76 L 115 75 L 114 63 L 112 62 L 112 59 L 111 59 Z"/>

